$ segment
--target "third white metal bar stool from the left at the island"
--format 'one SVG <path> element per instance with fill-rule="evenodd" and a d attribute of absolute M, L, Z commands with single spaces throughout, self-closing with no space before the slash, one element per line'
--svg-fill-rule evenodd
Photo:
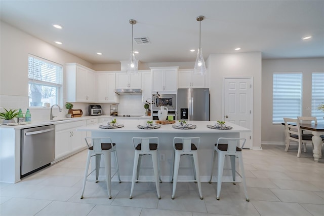
<path fill-rule="evenodd" d="M 197 150 L 199 148 L 200 137 L 174 137 L 173 138 L 173 148 L 174 148 L 174 157 L 173 157 L 173 173 L 172 180 L 173 190 L 172 190 L 172 199 L 174 199 L 178 181 L 178 171 L 180 164 L 180 157 L 182 155 L 190 155 L 192 157 L 192 168 L 194 180 L 186 182 L 195 182 L 198 184 L 198 191 L 200 199 L 203 199 L 201 193 L 201 184 L 200 184 L 200 174 L 199 174 L 199 164 L 198 164 L 198 154 Z"/>

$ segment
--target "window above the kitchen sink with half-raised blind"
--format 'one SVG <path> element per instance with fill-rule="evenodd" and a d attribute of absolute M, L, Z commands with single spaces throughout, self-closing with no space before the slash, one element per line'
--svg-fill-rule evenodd
<path fill-rule="evenodd" d="M 62 65 L 43 58 L 28 56 L 29 106 L 57 104 L 62 92 Z"/>

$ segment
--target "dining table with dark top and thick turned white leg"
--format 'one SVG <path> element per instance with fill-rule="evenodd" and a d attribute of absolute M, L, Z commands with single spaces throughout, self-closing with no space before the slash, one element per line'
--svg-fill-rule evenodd
<path fill-rule="evenodd" d="M 314 145 L 313 150 L 313 157 L 314 161 L 318 162 L 319 158 L 321 158 L 321 147 L 322 147 L 322 138 L 320 135 L 324 135 L 324 124 L 323 123 L 317 123 L 317 124 L 299 124 L 300 128 L 303 130 L 310 131 L 312 136 L 312 141 Z"/>

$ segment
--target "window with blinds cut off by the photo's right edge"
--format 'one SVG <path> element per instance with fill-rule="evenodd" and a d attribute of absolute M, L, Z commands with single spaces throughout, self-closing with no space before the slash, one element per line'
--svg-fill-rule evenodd
<path fill-rule="evenodd" d="M 319 104 L 324 104 L 324 72 L 312 73 L 312 116 L 324 123 L 324 113 L 317 109 Z"/>

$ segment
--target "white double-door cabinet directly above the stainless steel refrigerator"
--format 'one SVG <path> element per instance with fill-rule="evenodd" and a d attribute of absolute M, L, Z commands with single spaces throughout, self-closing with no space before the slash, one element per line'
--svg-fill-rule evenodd
<path fill-rule="evenodd" d="M 195 75 L 194 70 L 178 70 L 178 88 L 206 88 L 205 76 Z"/>

